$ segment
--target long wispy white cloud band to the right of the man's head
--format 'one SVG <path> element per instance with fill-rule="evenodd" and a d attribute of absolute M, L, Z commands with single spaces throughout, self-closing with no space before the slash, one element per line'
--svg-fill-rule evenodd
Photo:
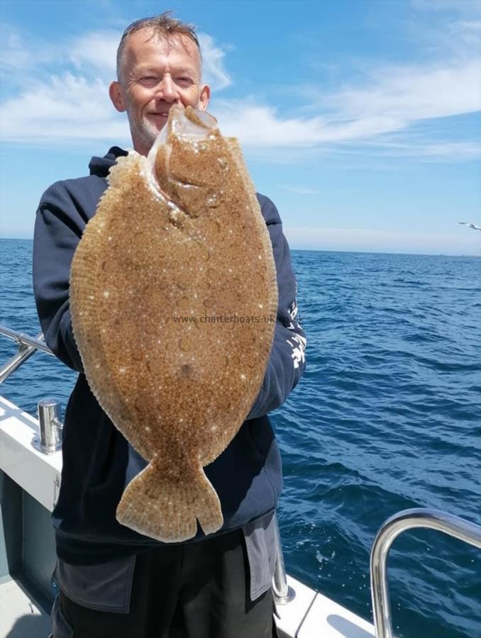
<path fill-rule="evenodd" d="M 328 113 L 317 117 L 285 118 L 253 99 L 219 101 L 219 123 L 243 145 L 256 147 L 328 147 L 342 142 L 380 142 L 383 135 L 411 125 L 481 110 L 481 58 L 450 65 L 412 65 L 378 69 L 363 86 L 345 87 L 318 101 Z M 402 147 L 414 157 L 472 159 L 475 142 L 434 143 Z"/>

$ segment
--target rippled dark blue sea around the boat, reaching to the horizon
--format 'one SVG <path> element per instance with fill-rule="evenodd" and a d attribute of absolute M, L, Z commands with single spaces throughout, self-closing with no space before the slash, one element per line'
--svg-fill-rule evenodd
<path fill-rule="evenodd" d="M 32 242 L 0 240 L 0 323 L 36 335 Z M 292 251 L 306 372 L 272 413 L 287 571 L 372 619 L 382 523 L 435 508 L 481 525 L 481 257 Z M 0 337 L 0 364 L 15 352 Z M 1 394 L 34 414 L 75 375 L 35 354 Z M 389 554 L 399 638 L 481 638 L 481 550 L 411 530 Z"/>

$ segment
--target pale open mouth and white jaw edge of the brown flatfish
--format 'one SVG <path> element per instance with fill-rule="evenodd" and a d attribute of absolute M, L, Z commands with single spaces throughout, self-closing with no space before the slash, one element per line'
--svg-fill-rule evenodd
<path fill-rule="evenodd" d="M 192 108 L 192 106 L 171 106 L 167 124 L 160 130 L 155 142 L 147 155 L 147 183 L 150 191 L 156 198 L 170 202 L 169 196 L 161 189 L 157 175 L 155 174 L 155 160 L 160 146 L 165 148 L 166 161 L 168 163 L 172 144 L 170 138 L 175 136 L 182 140 L 197 141 L 208 138 L 217 128 L 216 118 L 205 111 Z M 184 186 L 197 186 L 197 184 L 184 184 Z M 170 202 L 172 203 L 172 202 Z"/>

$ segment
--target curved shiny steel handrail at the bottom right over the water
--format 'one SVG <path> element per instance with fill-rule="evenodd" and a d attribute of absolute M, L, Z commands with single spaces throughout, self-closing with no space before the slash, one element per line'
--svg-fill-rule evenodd
<path fill-rule="evenodd" d="M 372 613 L 376 638 L 392 638 L 391 603 L 387 582 L 389 549 L 399 534 L 415 527 L 444 532 L 481 549 L 481 527 L 468 520 L 427 508 L 402 510 L 380 527 L 370 556 Z"/>

